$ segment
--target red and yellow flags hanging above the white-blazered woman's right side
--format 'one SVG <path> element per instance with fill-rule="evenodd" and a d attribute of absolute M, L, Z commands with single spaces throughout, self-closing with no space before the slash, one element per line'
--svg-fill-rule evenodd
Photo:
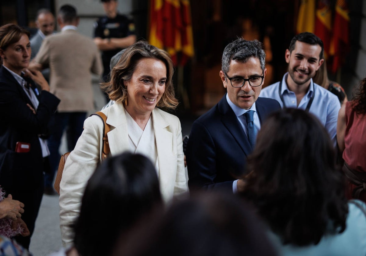
<path fill-rule="evenodd" d="M 165 49 L 175 65 L 193 57 L 193 31 L 189 0 L 150 0 L 149 42 Z"/>

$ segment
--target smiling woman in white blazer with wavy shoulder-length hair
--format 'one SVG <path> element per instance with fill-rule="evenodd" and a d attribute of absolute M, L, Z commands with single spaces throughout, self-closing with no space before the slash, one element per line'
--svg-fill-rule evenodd
<path fill-rule="evenodd" d="M 165 202 L 188 191 L 179 118 L 157 108 L 178 105 L 172 75 L 169 54 L 142 40 L 126 49 L 111 71 L 111 81 L 102 84 L 115 101 L 102 110 L 111 127 L 107 134 L 110 155 L 124 151 L 146 155 L 156 166 Z M 102 159 L 103 125 L 97 116 L 85 120 L 84 131 L 64 167 L 59 199 L 64 245 L 72 242 L 70 225 L 78 217 L 87 180 Z M 105 217 L 118 218 L 118 212 L 106 210 L 101 218 Z"/>

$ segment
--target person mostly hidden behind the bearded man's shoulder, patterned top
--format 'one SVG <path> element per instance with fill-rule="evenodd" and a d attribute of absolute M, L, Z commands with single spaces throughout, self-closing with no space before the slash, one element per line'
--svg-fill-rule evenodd
<path fill-rule="evenodd" d="M 329 80 L 325 60 L 318 69 L 318 71 L 315 73 L 315 76 L 313 77 L 313 82 L 319 84 L 321 87 L 324 87 L 331 93 L 335 94 L 338 97 L 341 105 L 347 102 L 347 95 L 343 87 L 340 86 L 339 83 Z"/>

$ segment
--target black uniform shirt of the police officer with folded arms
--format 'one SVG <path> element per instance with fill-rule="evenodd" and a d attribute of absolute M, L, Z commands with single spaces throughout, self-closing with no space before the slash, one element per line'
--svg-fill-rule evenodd
<path fill-rule="evenodd" d="M 117 14 L 113 19 L 107 16 L 98 19 L 94 23 L 94 37 L 104 38 L 123 38 L 129 35 L 135 34 L 135 25 L 132 19 L 129 19 L 125 15 Z M 111 58 L 117 54 L 122 48 L 115 50 L 102 51 L 102 61 L 103 61 L 103 75 L 102 79 L 107 80 L 109 75 L 109 63 Z"/>

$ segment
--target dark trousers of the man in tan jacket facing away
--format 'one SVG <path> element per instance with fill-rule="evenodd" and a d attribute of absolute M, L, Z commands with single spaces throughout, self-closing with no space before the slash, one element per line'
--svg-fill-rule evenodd
<path fill-rule="evenodd" d="M 53 116 L 50 125 L 51 136 L 48 138 L 51 171 L 45 174 L 45 188 L 53 187 L 53 178 L 59 167 L 61 157 L 59 153 L 61 138 L 65 129 L 67 128 L 67 150 L 71 151 L 83 132 L 85 118 L 86 112 L 56 112 Z"/>

